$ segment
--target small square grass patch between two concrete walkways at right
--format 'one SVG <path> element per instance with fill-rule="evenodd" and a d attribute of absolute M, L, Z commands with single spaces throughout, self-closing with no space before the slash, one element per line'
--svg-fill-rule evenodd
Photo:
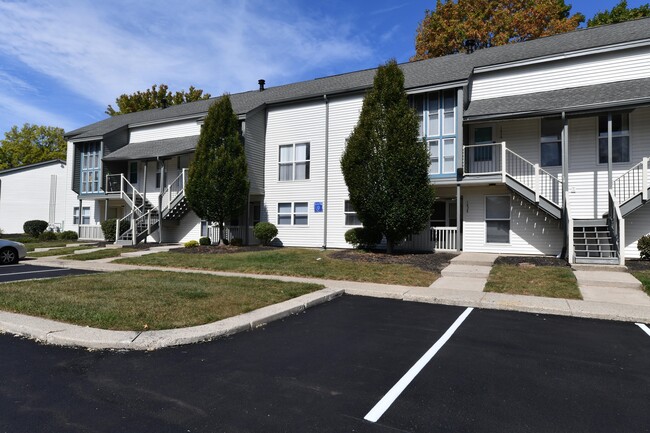
<path fill-rule="evenodd" d="M 547 298 L 582 299 L 578 283 L 569 267 L 494 265 L 486 292 Z"/>

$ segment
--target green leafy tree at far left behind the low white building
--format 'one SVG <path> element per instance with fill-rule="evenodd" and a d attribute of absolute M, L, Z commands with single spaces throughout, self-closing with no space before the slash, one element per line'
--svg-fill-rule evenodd
<path fill-rule="evenodd" d="M 63 129 L 53 126 L 14 125 L 0 140 L 0 170 L 66 158 Z"/>

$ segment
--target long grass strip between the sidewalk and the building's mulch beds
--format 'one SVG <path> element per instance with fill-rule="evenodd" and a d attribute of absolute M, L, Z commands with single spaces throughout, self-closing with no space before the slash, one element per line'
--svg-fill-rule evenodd
<path fill-rule="evenodd" d="M 171 266 L 250 274 L 429 286 L 439 275 L 410 265 L 367 263 L 329 257 L 330 251 L 279 248 L 234 254 L 158 253 L 117 259 L 116 263 Z"/>

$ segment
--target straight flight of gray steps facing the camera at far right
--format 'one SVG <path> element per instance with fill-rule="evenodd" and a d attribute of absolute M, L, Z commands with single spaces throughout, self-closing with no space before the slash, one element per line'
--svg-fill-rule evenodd
<path fill-rule="evenodd" d="M 618 265 L 618 247 L 607 219 L 573 221 L 575 263 Z"/>

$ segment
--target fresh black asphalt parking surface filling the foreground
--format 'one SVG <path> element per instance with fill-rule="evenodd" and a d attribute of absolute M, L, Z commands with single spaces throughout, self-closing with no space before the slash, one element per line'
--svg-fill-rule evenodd
<path fill-rule="evenodd" d="M 343 296 L 254 331 L 149 353 L 2 335 L 0 431 L 644 432 L 648 332 Z"/>

